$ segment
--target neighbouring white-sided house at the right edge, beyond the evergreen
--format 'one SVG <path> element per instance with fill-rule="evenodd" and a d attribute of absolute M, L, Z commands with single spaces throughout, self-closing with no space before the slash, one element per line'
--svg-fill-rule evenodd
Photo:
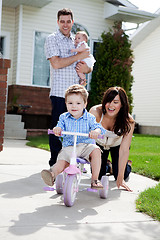
<path fill-rule="evenodd" d="M 144 23 L 131 41 L 135 57 L 133 116 L 140 133 L 160 135 L 160 16 Z"/>

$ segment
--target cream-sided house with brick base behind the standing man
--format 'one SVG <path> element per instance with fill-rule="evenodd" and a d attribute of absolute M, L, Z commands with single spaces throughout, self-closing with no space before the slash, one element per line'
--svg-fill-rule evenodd
<path fill-rule="evenodd" d="M 92 53 L 102 32 L 112 28 L 115 20 L 141 23 L 156 17 L 126 0 L 2 1 L 0 47 L 3 57 L 11 59 L 8 111 L 13 105 L 23 105 L 20 113 L 25 128 L 49 127 L 49 62 L 45 59 L 44 42 L 57 29 L 56 14 L 64 7 L 73 10 L 73 31 L 87 31 Z M 88 82 L 90 78 L 89 75 Z"/>

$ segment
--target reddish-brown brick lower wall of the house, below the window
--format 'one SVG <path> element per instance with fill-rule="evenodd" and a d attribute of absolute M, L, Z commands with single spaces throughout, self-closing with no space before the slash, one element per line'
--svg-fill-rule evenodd
<path fill-rule="evenodd" d="M 51 102 L 49 99 L 49 88 L 10 85 L 8 86 L 7 110 L 16 99 L 16 104 L 32 106 L 26 113 L 32 115 L 51 115 Z M 19 110 L 21 113 L 21 110 Z"/>

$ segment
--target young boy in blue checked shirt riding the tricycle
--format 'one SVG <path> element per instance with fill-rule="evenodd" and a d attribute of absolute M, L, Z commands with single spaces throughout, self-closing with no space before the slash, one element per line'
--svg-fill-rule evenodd
<path fill-rule="evenodd" d="M 93 144 L 92 139 L 96 139 L 101 133 L 104 134 L 106 130 L 85 109 L 87 98 L 88 92 L 82 85 L 70 86 L 65 93 L 68 112 L 60 115 L 53 132 L 56 136 L 61 136 L 62 131 L 89 133 L 89 138 L 77 136 L 77 157 L 85 158 L 91 163 L 91 188 L 102 189 L 103 185 L 98 180 L 101 167 L 101 150 L 96 144 Z M 51 171 L 43 170 L 41 172 L 41 176 L 47 185 L 53 186 L 56 176 L 69 166 L 73 143 L 73 136 L 63 135 L 62 150 L 58 154 L 57 162 L 53 165 Z"/>

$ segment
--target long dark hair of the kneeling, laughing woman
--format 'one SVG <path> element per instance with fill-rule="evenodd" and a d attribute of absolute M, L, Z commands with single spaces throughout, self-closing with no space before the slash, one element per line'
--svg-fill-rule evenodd
<path fill-rule="evenodd" d="M 103 96 L 102 99 L 102 112 L 105 115 L 106 114 L 106 108 L 105 105 L 108 102 L 112 102 L 113 99 L 119 95 L 120 101 L 121 101 L 121 109 L 118 112 L 118 115 L 116 117 L 115 124 L 113 126 L 113 131 L 117 135 L 126 135 L 130 132 L 131 126 L 130 123 L 133 123 L 134 120 L 132 120 L 129 117 L 129 103 L 128 103 L 128 97 L 125 92 L 125 90 L 121 87 L 111 87 L 109 88 Z"/>

